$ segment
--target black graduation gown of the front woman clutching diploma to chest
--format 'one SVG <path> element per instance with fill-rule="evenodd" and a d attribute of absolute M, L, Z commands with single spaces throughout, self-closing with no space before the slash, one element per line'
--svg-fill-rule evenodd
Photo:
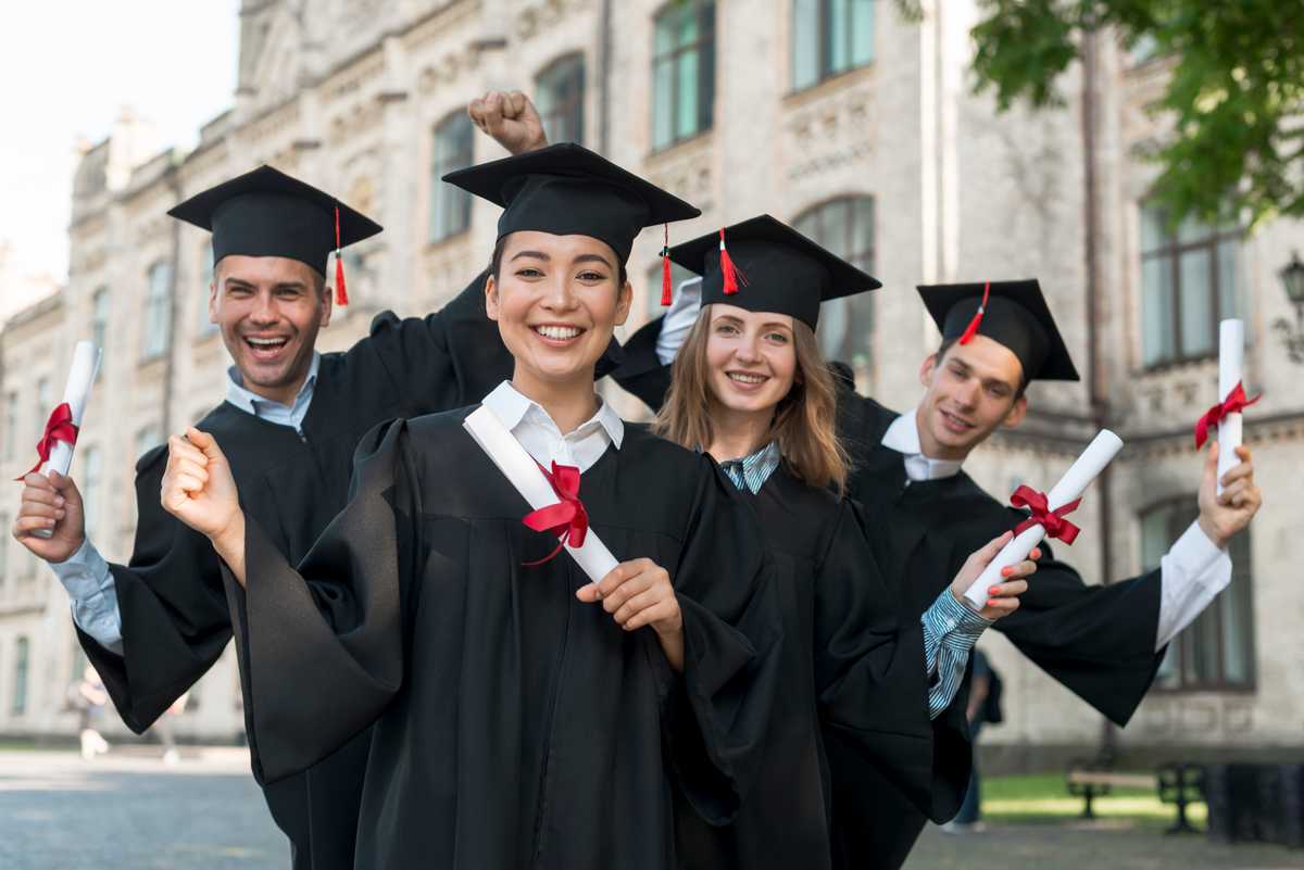
<path fill-rule="evenodd" d="M 664 565 L 685 669 L 575 590 L 554 539 L 462 427 L 378 427 L 297 572 L 246 526 L 228 577 L 270 780 L 373 722 L 357 867 L 661 870 L 672 785 L 725 822 L 758 765 L 781 649 L 760 530 L 709 458 L 627 427 L 582 478 L 617 559 Z"/>

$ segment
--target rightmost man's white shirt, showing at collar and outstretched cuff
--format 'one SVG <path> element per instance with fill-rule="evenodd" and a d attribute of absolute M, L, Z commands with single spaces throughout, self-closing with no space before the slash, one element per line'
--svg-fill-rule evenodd
<path fill-rule="evenodd" d="M 897 417 L 883 434 L 883 447 L 902 455 L 905 475 L 913 482 L 936 481 L 960 473 L 964 460 L 935 460 L 923 455 L 919 426 L 911 409 Z M 1033 574 L 1031 582 L 1037 582 Z M 1198 522 L 1159 560 L 1159 624 L 1154 649 L 1158 652 L 1178 632 L 1191 625 L 1218 593 L 1231 582 L 1231 556 L 1209 539 Z"/>

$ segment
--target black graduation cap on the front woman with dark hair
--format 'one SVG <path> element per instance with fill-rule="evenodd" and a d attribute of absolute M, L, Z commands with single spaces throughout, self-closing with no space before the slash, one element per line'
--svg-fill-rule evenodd
<path fill-rule="evenodd" d="M 574 142 L 458 169 L 443 180 L 503 207 L 498 238 L 524 229 L 591 236 L 625 263 L 644 227 L 702 214 Z"/>

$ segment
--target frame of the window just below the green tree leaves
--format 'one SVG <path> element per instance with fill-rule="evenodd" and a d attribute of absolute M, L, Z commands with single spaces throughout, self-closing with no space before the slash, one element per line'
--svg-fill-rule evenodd
<path fill-rule="evenodd" d="M 1145 232 L 1146 212 L 1157 212 L 1158 223 L 1163 228 L 1163 242 L 1153 250 L 1145 249 L 1145 241 L 1141 234 Z M 1138 206 L 1138 228 L 1137 228 L 1137 264 L 1140 274 L 1140 303 L 1141 303 L 1141 367 L 1145 371 L 1162 371 L 1164 369 L 1171 369 L 1175 366 L 1184 366 L 1194 362 L 1205 362 L 1208 359 L 1214 359 L 1218 357 L 1218 323 L 1227 316 L 1236 314 L 1235 311 L 1223 313 L 1222 311 L 1222 287 L 1219 285 L 1218 267 L 1218 249 L 1223 242 L 1235 242 L 1239 246 L 1245 240 L 1245 231 L 1239 225 L 1234 225 L 1226 229 L 1218 227 L 1210 227 L 1211 232 L 1206 236 L 1201 236 L 1196 241 L 1183 242 L 1178 238 L 1178 231 L 1170 229 L 1167 224 L 1167 212 L 1158 206 L 1149 204 L 1142 201 Z M 1180 228 L 1179 228 L 1180 229 Z M 1187 352 L 1183 335 L 1181 335 L 1181 258 L 1185 254 L 1205 250 L 1209 253 L 1209 335 L 1210 343 L 1209 349 L 1201 352 Z M 1145 298 L 1148 288 L 1145 285 L 1145 267 L 1150 260 L 1167 260 L 1170 287 L 1168 287 L 1168 309 L 1170 309 L 1170 322 L 1167 324 L 1168 335 L 1172 336 L 1172 354 L 1161 356 L 1161 358 L 1150 362 L 1146 359 L 1146 346 L 1145 346 Z M 1231 288 L 1232 300 L 1239 301 L 1237 283 L 1235 275 L 1232 276 L 1234 285 Z"/>

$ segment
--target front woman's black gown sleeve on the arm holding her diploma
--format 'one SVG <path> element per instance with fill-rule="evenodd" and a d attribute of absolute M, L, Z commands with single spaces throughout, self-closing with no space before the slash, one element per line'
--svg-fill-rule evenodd
<path fill-rule="evenodd" d="M 707 468 L 670 568 L 685 663 L 664 731 L 675 785 L 699 817 L 726 824 L 764 763 L 784 638 L 755 513 L 713 461 L 700 461 Z"/>

